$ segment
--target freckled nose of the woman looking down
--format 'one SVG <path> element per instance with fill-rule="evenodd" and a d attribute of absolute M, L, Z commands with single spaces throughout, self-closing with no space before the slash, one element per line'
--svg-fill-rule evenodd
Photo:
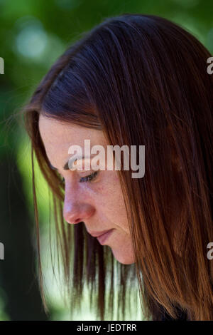
<path fill-rule="evenodd" d="M 94 212 L 94 206 L 85 202 L 85 200 L 82 201 L 65 196 L 63 216 L 66 222 L 76 224 L 88 220 L 89 217 L 94 215 Z"/>

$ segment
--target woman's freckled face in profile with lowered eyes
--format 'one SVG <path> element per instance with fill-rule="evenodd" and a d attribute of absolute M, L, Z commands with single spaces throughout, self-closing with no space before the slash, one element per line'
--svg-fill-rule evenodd
<path fill-rule="evenodd" d="M 118 172 L 106 168 L 88 180 L 87 176 L 94 171 L 63 169 L 73 155 L 68 153 L 70 146 L 79 145 L 84 155 L 86 139 L 90 140 L 91 148 L 93 145 L 102 145 L 107 153 L 107 142 L 102 131 L 61 123 L 43 115 L 39 118 L 39 130 L 50 164 L 58 169 L 65 180 L 65 221 L 70 224 L 84 222 L 87 232 L 92 235 L 111 230 L 110 234 L 103 235 L 107 238 L 103 240 L 102 237 L 99 242 L 111 247 L 120 263 L 134 263 L 133 244 Z M 84 163 L 82 166 L 84 168 Z"/>

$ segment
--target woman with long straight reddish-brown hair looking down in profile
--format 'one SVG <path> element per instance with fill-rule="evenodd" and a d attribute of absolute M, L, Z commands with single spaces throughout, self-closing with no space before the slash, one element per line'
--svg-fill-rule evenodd
<path fill-rule="evenodd" d="M 210 56 L 166 19 L 124 14 L 70 46 L 26 106 L 72 306 L 87 281 L 97 317 L 107 307 L 112 315 L 118 270 L 123 315 L 138 283 L 147 319 L 213 319 Z M 144 145 L 145 175 L 133 178 L 123 166 L 70 170 L 70 145 L 83 148 L 85 139 L 103 148 Z M 34 173 L 33 194 L 38 230 Z"/>

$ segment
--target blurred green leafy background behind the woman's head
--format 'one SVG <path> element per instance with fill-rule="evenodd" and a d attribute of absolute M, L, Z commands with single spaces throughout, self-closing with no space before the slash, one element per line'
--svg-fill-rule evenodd
<path fill-rule="evenodd" d="M 189 30 L 213 53 L 212 0 L 0 0 L 0 320 L 70 320 L 53 277 L 48 240 L 48 191 L 39 177 L 38 206 L 45 293 L 45 315 L 38 289 L 35 222 L 31 191 L 30 143 L 18 117 L 35 86 L 65 48 L 104 18 L 123 13 L 155 14 Z M 39 172 L 38 172 L 39 173 Z M 75 320 L 94 320 L 84 294 Z M 137 320 L 139 300 L 127 320 Z M 116 319 L 116 316 L 115 316 Z"/>

